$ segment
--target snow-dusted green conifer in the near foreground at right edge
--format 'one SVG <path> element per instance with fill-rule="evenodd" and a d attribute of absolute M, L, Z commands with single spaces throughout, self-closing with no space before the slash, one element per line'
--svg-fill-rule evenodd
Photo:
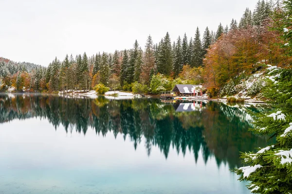
<path fill-rule="evenodd" d="M 283 1 L 283 9 L 274 15 L 276 30 L 285 42 L 292 42 L 287 33 L 292 23 L 292 0 Z M 284 30 L 283 30 L 284 29 Z M 287 30 L 286 30 L 287 29 Z M 292 48 L 288 55 L 292 55 Z M 254 133 L 276 137 L 276 143 L 243 153 L 246 166 L 234 169 L 239 180 L 249 181 L 248 188 L 258 194 L 292 193 L 292 70 L 268 65 L 264 96 L 274 104 L 272 113 L 252 113 Z"/>

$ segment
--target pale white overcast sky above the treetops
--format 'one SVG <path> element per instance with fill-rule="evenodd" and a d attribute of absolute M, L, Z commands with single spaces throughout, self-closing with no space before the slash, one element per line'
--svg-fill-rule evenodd
<path fill-rule="evenodd" d="M 171 41 L 239 21 L 257 0 L 0 0 L 0 57 L 47 66 L 55 56 L 144 49 L 169 32 Z"/>

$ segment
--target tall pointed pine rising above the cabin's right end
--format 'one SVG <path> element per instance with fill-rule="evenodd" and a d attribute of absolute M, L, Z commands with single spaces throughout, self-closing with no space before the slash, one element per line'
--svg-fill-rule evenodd
<path fill-rule="evenodd" d="M 203 52 L 202 52 L 202 45 L 201 45 L 201 38 L 200 38 L 200 31 L 199 28 L 197 27 L 196 30 L 196 34 L 195 34 L 195 38 L 194 38 L 194 52 L 193 52 L 193 67 L 198 67 L 201 66 L 203 61 L 202 61 L 202 57 L 203 57 Z"/>

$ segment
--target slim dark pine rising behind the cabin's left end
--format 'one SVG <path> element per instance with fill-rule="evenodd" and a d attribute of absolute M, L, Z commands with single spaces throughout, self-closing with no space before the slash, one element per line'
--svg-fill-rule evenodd
<path fill-rule="evenodd" d="M 182 40 L 179 36 L 177 43 L 175 44 L 174 56 L 173 56 L 173 72 L 174 76 L 178 76 L 183 68 L 183 49 Z"/>

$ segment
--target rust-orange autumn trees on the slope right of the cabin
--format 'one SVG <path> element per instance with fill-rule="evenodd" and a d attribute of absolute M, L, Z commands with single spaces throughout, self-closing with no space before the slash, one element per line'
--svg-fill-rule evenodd
<path fill-rule="evenodd" d="M 211 96 L 229 80 L 239 81 L 240 76 L 249 76 L 263 64 L 287 66 L 291 57 L 284 56 L 279 47 L 277 32 L 270 30 L 271 20 L 260 27 L 234 29 L 223 34 L 210 46 L 203 61 L 204 82 Z"/>

